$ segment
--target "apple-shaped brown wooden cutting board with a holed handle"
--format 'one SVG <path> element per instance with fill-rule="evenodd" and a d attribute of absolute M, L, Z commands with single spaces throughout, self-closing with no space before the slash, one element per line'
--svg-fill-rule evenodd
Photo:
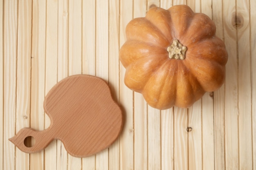
<path fill-rule="evenodd" d="M 58 82 L 45 97 L 44 109 L 51 119 L 49 128 L 23 128 L 9 139 L 23 152 L 38 152 L 59 139 L 70 155 L 87 157 L 108 148 L 124 122 L 108 84 L 91 75 L 73 75 Z M 33 146 L 26 144 L 28 138 L 34 138 Z"/>

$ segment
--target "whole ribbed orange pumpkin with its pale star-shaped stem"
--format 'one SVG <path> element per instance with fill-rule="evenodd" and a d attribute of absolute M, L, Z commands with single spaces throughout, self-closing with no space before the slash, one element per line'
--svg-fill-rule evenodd
<path fill-rule="evenodd" d="M 189 107 L 225 80 L 228 54 L 214 22 L 187 5 L 154 7 L 126 26 L 124 82 L 158 109 Z"/>

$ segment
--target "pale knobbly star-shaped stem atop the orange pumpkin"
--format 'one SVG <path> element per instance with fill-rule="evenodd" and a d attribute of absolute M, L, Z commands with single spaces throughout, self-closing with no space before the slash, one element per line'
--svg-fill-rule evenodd
<path fill-rule="evenodd" d="M 167 47 L 169 58 L 176 60 L 184 60 L 186 50 L 186 46 L 183 46 L 178 40 L 173 40 L 173 44 Z"/>

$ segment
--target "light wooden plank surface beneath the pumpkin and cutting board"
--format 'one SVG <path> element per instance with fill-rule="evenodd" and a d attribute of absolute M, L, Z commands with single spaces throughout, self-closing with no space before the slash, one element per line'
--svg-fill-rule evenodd
<path fill-rule="evenodd" d="M 132 18 L 175 4 L 216 23 L 229 53 L 226 81 L 188 109 L 156 110 L 124 85 L 118 51 Z M 0 0 L 0 169 L 256 169 L 255 20 L 255 0 Z M 45 95 L 81 73 L 105 79 L 125 110 L 110 148 L 76 158 L 61 141 L 35 154 L 8 141 L 21 128 L 47 128 Z"/>

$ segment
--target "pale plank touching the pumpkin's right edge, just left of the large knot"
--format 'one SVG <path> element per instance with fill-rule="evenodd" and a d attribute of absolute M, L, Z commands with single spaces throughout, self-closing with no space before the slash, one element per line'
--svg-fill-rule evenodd
<path fill-rule="evenodd" d="M 238 65 L 237 65 L 237 39 L 236 28 L 232 18 L 236 13 L 234 0 L 223 1 L 225 44 L 229 46 L 227 52 L 229 60 L 226 65 L 225 83 L 225 161 L 227 170 L 239 169 L 238 149 Z M 228 19 L 229 18 L 229 19 Z M 228 20 L 227 20 L 228 19 Z"/>

